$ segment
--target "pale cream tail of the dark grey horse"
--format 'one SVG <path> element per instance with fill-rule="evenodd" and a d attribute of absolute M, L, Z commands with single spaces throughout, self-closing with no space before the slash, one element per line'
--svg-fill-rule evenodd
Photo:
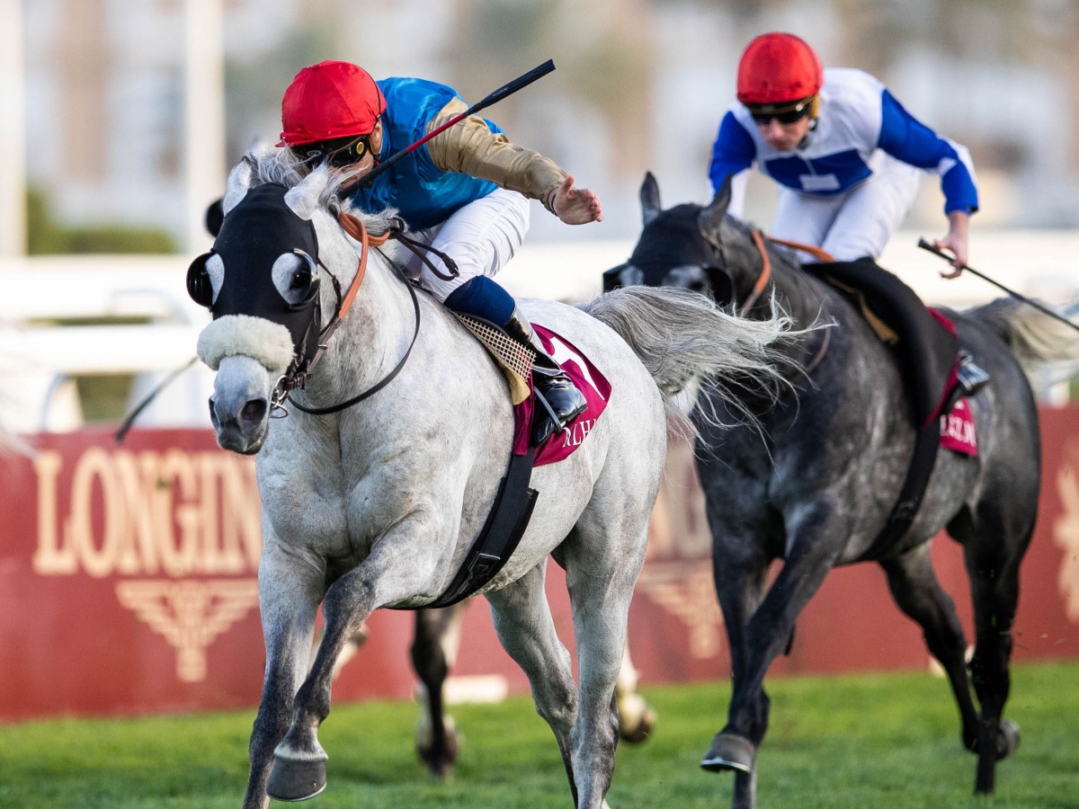
<path fill-rule="evenodd" d="M 1079 359 L 1079 330 L 1015 298 L 997 298 L 968 313 L 1003 340 L 1024 367 Z"/>

